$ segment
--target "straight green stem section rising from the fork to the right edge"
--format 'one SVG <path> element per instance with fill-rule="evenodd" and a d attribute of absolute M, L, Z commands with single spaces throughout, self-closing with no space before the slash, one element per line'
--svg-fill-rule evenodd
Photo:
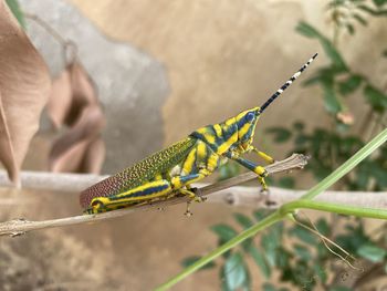
<path fill-rule="evenodd" d="M 346 175 L 349 170 L 357 166 L 363 159 L 365 159 L 369 154 L 372 154 L 376 148 L 383 145 L 387 141 L 387 128 L 379 133 L 373 141 L 359 149 L 355 155 L 353 155 L 348 160 L 346 160 L 342 166 L 334 170 L 330 176 L 324 178 L 321 183 L 310 189 L 301 199 L 313 199 L 322 191 L 330 188 L 339 178 Z"/>

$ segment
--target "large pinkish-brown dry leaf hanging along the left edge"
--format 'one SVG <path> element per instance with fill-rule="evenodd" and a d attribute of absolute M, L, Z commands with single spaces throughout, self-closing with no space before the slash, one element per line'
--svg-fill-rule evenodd
<path fill-rule="evenodd" d="M 4 1 L 0 1 L 0 160 L 19 172 L 50 94 L 48 67 Z"/>

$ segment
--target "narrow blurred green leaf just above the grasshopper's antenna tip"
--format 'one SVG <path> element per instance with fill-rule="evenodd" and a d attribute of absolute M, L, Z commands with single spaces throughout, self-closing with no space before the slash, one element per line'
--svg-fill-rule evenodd
<path fill-rule="evenodd" d="M 332 44 L 332 42 L 327 38 L 325 38 L 323 34 L 321 34 L 315 28 L 307 24 L 306 22 L 301 21 L 301 22 L 299 22 L 295 30 L 307 38 L 317 39 L 320 41 L 321 45 L 323 46 L 326 55 L 333 62 L 333 64 L 337 69 L 339 69 L 341 71 L 347 70 L 347 66 L 346 66 L 342 55 L 338 53 L 338 51 L 335 49 L 335 46 Z"/>

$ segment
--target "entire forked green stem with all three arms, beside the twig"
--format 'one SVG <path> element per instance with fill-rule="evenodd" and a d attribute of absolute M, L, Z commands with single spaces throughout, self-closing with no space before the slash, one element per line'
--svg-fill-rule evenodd
<path fill-rule="evenodd" d="M 387 219 L 387 211 L 377 210 L 377 209 L 367 209 L 367 208 L 358 208 L 352 206 L 341 206 L 335 204 L 327 204 L 321 201 L 312 201 L 311 199 L 316 197 L 322 191 L 326 190 L 331 187 L 335 181 L 337 181 L 341 177 L 346 175 L 349 170 L 352 170 L 358 163 L 365 159 L 368 155 L 370 155 L 377 147 L 383 145 L 387 141 L 387 128 L 384 129 L 380 134 L 374 137 L 367 145 L 365 145 L 360 150 L 358 150 L 353 157 L 351 157 L 347 162 L 345 162 L 341 167 L 338 167 L 334 173 L 318 183 L 315 187 L 308 190 L 301 199 L 283 205 L 279 210 L 265 217 L 263 220 L 258 222 L 255 226 L 244 230 L 242 233 L 238 235 L 233 239 L 229 240 L 224 245 L 211 251 L 209 254 L 202 257 L 200 260 L 196 261 L 176 277 L 171 278 L 166 283 L 159 285 L 156 290 L 163 291 L 168 290 L 170 287 L 175 285 L 177 282 L 181 281 L 184 278 L 199 270 L 201 267 L 218 258 L 222 253 L 227 252 L 231 248 L 238 246 L 245 239 L 249 239 L 255 236 L 259 231 L 268 228 L 269 226 L 284 219 L 287 214 L 294 212 L 297 208 L 310 208 L 323 211 L 337 212 L 343 215 L 356 215 L 360 217 L 369 217 L 369 218 L 380 218 Z"/>

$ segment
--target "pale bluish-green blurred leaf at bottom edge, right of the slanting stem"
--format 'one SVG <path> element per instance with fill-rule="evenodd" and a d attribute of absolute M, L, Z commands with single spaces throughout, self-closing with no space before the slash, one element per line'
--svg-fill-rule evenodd
<path fill-rule="evenodd" d="M 224 263 L 226 284 L 230 290 L 245 287 L 249 283 L 249 273 L 240 252 L 232 253 Z"/>

